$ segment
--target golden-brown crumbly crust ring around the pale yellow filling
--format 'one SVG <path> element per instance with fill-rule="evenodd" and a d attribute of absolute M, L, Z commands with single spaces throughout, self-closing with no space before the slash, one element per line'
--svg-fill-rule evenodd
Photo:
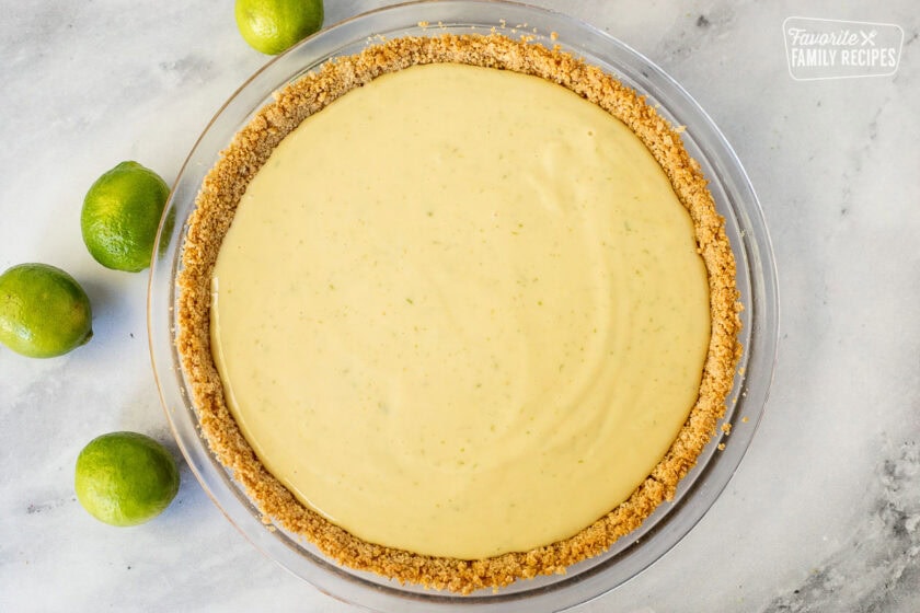
<path fill-rule="evenodd" d="M 220 243 L 250 180 L 280 140 L 306 117 L 338 96 L 387 72 L 419 63 L 459 62 L 533 74 L 594 102 L 629 126 L 662 167 L 695 227 L 698 248 L 709 274 L 712 334 L 699 398 L 685 426 L 653 473 L 628 500 L 570 539 L 524 553 L 461 560 L 417 555 L 357 539 L 303 507 L 256 458 L 223 400 L 210 354 L 210 277 Z M 539 44 L 501 34 L 404 37 L 337 58 L 287 85 L 221 152 L 205 177 L 188 220 L 177 277 L 177 350 L 197 409 L 202 432 L 263 513 L 265 523 L 300 534 L 338 563 L 401 582 L 470 593 L 521 578 L 561 574 L 607 551 L 632 532 L 694 465 L 725 413 L 741 354 L 737 340 L 740 304 L 735 259 L 699 164 L 683 148 L 679 131 L 633 90 L 599 68 Z"/>

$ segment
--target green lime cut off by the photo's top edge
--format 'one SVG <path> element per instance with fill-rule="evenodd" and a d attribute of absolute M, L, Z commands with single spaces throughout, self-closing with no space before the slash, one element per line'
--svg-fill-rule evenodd
<path fill-rule="evenodd" d="M 269 56 L 323 26 L 322 0 L 237 0 L 233 12 L 243 39 Z"/>

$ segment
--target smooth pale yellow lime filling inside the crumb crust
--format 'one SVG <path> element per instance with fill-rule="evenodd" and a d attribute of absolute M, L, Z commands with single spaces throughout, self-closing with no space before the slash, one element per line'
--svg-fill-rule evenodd
<path fill-rule="evenodd" d="M 536 77 L 383 76 L 250 184 L 214 274 L 228 404 L 356 536 L 481 558 L 623 501 L 693 405 L 693 225 L 620 122 Z"/>

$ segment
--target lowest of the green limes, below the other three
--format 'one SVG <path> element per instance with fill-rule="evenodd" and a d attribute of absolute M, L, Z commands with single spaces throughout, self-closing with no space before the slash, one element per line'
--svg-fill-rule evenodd
<path fill-rule="evenodd" d="M 96 437 L 77 458 L 77 498 L 91 516 L 112 525 L 137 525 L 170 506 L 179 470 L 159 442 L 137 432 Z"/>

